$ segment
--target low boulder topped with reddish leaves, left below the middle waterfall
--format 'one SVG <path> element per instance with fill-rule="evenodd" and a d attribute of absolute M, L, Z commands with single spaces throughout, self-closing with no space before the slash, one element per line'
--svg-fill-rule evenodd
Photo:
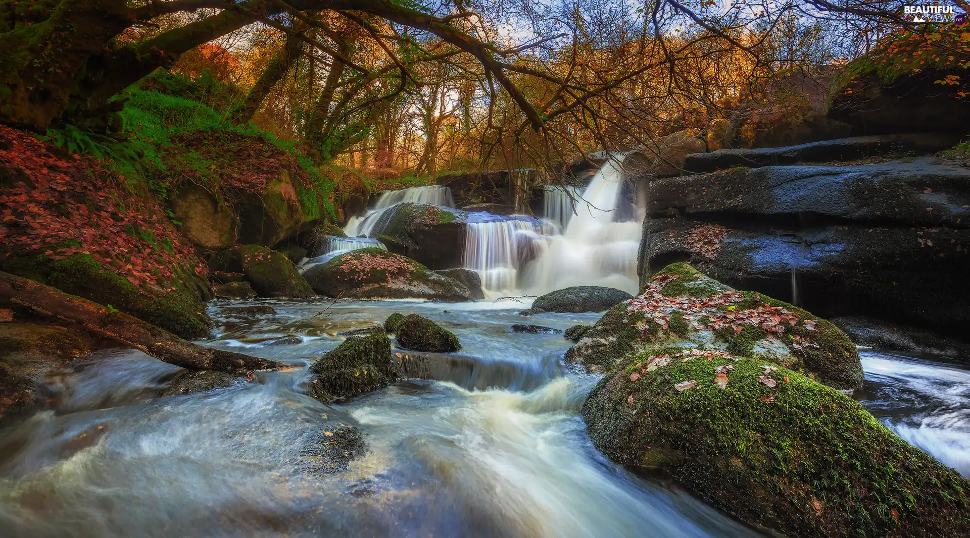
<path fill-rule="evenodd" d="M 320 295 L 344 299 L 470 301 L 469 289 L 414 260 L 379 248 L 340 255 L 304 272 Z"/>

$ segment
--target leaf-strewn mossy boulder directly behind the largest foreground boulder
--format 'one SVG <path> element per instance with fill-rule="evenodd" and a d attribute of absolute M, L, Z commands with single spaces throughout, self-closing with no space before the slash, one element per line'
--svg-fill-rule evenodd
<path fill-rule="evenodd" d="M 834 325 L 787 302 L 733 290 L 682 263 L 658 272 L 640 296 L 610 308 L 566 352 L 566 361 L 609 372 L 666 344 L 753 357 L 835 389 L 862 386 L 856 346 Z"/>

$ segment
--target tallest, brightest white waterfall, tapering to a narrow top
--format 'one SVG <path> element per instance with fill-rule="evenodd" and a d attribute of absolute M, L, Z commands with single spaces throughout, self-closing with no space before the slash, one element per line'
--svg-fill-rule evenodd
<path fill-rule="evenodd" d="M 577 200 L 566 232 L 547 238 L 543 252 L 523 271 L 521 288 L 526 293 L 543 295 L 568 286 L 637 292 L 641 224 L 614 222 L 623 202 L 622 162 L 622 155 L 612 156 L 599 169 Z"/>

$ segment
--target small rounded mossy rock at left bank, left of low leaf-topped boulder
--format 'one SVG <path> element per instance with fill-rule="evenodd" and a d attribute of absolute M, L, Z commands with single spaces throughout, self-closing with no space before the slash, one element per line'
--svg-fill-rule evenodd
<path fill-rule="evenodd" d="M 237 252 L 242 273 L 259 297 L 306 298 L 315 295 L 285 255 L 255 244 L 241 246 Z"/>

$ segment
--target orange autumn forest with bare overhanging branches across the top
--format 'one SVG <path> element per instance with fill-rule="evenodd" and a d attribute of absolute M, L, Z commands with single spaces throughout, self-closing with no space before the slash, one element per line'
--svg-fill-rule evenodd
<path fill-rule="evenodd" d="M 299 152 L 310 174 L 385 179 L 559 175 L 588 152 L 703 136 L 713 119 L 796 123 L 829 96 L 792 89 L 792 74 L 827 89 L 870 69 L 892 79 L 963 68 L 970 36 L 853 0 L 115 4 L 0 2 L 0 43 L 22 50 L 2 73 L 6 123 L 140 168 L 173 136 L 255 129 Z M 82 36 L 58 29 L 57 9 L 128 18 Z M 61 65 L 73 56 L 64 47 L 86 64 Z M 122 72 L 125 62 L 137 70 Z M 940 82 L 962 96 L 959 76 Z"/>

